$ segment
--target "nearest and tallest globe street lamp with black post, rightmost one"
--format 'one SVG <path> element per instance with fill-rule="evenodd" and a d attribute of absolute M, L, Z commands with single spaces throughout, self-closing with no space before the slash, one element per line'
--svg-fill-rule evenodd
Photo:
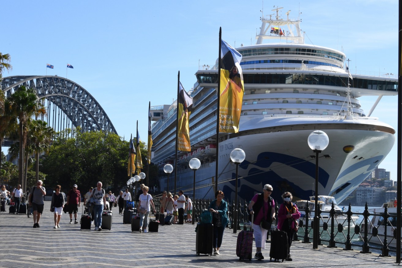
<path fill-rule="evenodd" d="M 316 130 L 310 133 L 307 139 L 308 146 L 316 153 L 316 182 L 314 196 L 314 219 L 313 219 L 313 249 L 318 248 L 319 217 L 318 217 L 318 153 L 321 153 L 328 146 L 328 135 L 324 131 Z"/>

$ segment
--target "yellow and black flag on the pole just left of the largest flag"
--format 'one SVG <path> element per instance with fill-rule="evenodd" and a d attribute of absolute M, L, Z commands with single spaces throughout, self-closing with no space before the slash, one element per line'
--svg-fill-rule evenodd
<path fill-rule="evenodd" d="M 179 82 L 177 96 L 177 149 L 179 151 L 191 151 L 189 120 L 192 108 L 193 98 L 187 94 Z"/>

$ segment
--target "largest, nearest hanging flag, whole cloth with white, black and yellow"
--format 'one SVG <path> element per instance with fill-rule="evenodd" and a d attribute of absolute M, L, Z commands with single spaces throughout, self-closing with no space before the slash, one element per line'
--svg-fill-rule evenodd
<path fill-rule="evenodd" d="M 238 133 L 244 94 L 242 54 L 221 39 L 219 132 Z"/>

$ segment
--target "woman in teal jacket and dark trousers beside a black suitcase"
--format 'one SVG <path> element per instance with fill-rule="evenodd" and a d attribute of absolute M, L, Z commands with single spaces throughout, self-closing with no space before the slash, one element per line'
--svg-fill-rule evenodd
<path fill-rule="evenodd" d="M 215 200 L 209 205 L 209 211 L 212 212 L 213 223 L 213 254 L 219 255 L 219 248 L 222 245 L 222 238 L 226 225 L 228 225 L 228 202 L 224 199 L 224 192 L 216 191 Z"/>

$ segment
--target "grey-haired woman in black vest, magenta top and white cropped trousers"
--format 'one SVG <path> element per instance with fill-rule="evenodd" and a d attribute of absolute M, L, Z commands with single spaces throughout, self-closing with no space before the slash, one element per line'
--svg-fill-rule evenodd
<path fill-rule="evenodd" d="M 263 194 L 254 195 L 254 197 L 251 199 L 250 204 L 248 205 L 248 209 L 250 210 L 250 224 L 252 219 L 251 215 L 254 214 L 253 229 L 255 246 L 257 248 L 254 258 L 258 260 L 264 259 L 261 250 L 265 250 L 265 241 L 267 240 L 266 237 L 268 232 L 268 229 L 260 226 L 261 221 L 275 221 L 275 202 L 270 196 L 272 190 L 273 188 L 271 185 L 265 184 L 263 188 Z"/>

